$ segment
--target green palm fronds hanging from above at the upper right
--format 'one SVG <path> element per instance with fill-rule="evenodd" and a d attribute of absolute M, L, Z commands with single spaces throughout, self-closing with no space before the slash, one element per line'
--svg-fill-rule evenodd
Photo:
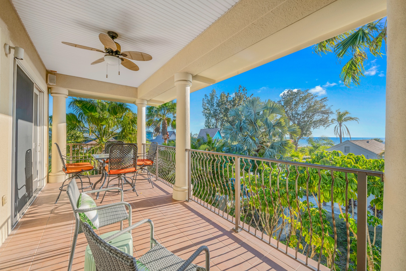
<path fill-rule="evenodd" d="M 347 87 L 350 87 L 351 82 L 357 86 L 361 76 L 364 76 L 366 50 L 374 56 L 382 57 L 382 43 L 386 43 L 386 38 L 387 21 L 381 19 L 317 43 L 313 50 L 319 55 L 334 52 L 339 61 L 349 56 L 350 60 L 341 69 L 340 78 Z"/>

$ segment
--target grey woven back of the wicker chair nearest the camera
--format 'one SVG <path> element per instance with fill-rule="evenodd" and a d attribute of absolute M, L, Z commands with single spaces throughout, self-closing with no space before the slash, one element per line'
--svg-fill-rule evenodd
<path fill-rule="evenodd" d="M 83 223 L 83 230 L 97 271 L 138 271 L 134 257 L 106 243 L 89 224 Z"/>

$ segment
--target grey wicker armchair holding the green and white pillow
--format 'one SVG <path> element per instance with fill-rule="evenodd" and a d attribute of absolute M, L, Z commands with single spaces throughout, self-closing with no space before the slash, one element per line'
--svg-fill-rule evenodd
<path fill-rule="evenodd" d="M 110 204 L 97 206 L 95 208 L 78 209 L 77 204 L 80 192 L 75 179 L 72 179 L 71 182 L 69 182 L 69 184 L 67 185 L 66 193 L 68 194 L 69 202 L 71 202 L 72 210 L 76 220 L 75 232 L 73 234 L 71 250 L 69 253 L 68 271 L 71 271 L 72 269 L 73 255 L 75 254 L 76 241 L 78 240 L 78 235 L 84 232 L 83 229 L 85 228 L 84 227 L 85 223 L 83 223 L 80 220 L 79 212 L 89 212 L 97 210 L 97 215 L 99 217 L 99 228 L 120 222 L 120 230 L 123 230 L 123 221 L 125 220 L 128 220 L 128 225 L 131 226 L 131 205 L 127 202 L 124 202 L 123 191 L 121 189 L 119 189 L 118 187 L 110 187 L 104 189 L 85 191 L 83 193 L 91 194 L 111 190 L 118 190 L 119 192 L 121 192 L 120 202 L 113 202 Z M 128 208 L 128 213 L 125 206 L 127 206 Z"/>

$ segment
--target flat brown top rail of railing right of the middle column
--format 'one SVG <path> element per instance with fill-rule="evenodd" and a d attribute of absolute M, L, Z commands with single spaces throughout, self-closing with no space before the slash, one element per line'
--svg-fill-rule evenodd
<path fill-rule="evenodd" d="M 222 155 L 222 156 L 233 156 L 233 157 L 246 158 L 246 159 L 250 159 L 250 160 L 258 160 L 258 161 L 263 161 L 263 162 L 272 162 L 272 163 L 292 165 L 292 166 L 298 166 L 298 167 L 310 167 L 310 168 L 314 168 L 314 169 L 333 170 L 333 171 L 341 171 L 341 172 L 355 173 L 355 174 L 366 173 L 368 176 L 376 176 L 376 177 L 382 178 L 382 182 L 384 180 L 384 173 L 382 171 L 374 171 L 374 170 L 367 170 L 367 169 L 354 169 L 351 167 L 335 167 L 335 166 L 327 166 L 327 165 L 317 165 L 317 164 L 310 164 L 310 163 L 303 163 L 303 162 L 286 161 L 286 160 L 262 158 L 262 157 L 255 157 L 255 156 L 245 156 L 245 155 L 238 155 L 238 154 L 227 154 L 227 153 L 222 153 L 222 152 L 209 152 L 209 151 L 201 151 L 201 150 L 193 150 L 193 149 L 186 149 L 186 151 L 202 152 L 202 153 Z"/>

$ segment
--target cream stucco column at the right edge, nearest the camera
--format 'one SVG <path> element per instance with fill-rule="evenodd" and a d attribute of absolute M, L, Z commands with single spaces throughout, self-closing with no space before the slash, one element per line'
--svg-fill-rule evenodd
<path fill-rule="evenodd" d="M 387 0 L 385 180 L 381 270 L 406 266 L 406 1 Z"/>

